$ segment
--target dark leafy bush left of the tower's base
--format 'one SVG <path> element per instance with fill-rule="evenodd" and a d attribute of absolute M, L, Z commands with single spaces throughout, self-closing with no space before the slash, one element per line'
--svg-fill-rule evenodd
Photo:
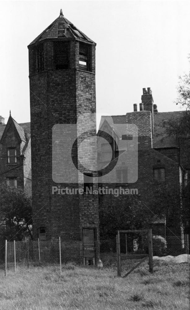
<path fill-rule="evenodd" d="M 0 187 L 0 236 L 3 240 L 32 238 L 32 204 L 21 189 Z"/>

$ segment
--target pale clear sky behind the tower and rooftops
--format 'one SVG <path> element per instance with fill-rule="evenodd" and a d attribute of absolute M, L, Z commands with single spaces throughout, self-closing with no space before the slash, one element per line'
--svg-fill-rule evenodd
<path fill-rule="evenodd" d="M 190 65 L 190 1 L 0 1 L 0 115 L 30 121 L 28 48 L 63 15 L 96 47 L 97 113 L 122 115 L 150 87 L 158 112 L 177 111 Z"/>

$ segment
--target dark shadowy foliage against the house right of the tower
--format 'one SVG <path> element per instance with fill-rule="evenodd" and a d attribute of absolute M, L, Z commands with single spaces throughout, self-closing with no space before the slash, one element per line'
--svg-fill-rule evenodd
<path fill-rule="evenodd" d="M 117 230 L 151 228 L 152 219 L 166 216 L 170 227 L 177 227 L 181 214 L 180 193 L 175 188 L 162 184 L 149 183 L 144 195 L 106 195 L 100 203 L 100 237 L 114 238 Z M 146 195 L 146 196 L 145 196 Z M 151 201 L 151 203 L 146 203 Z M 109 201 L 110 199 L 110 201 Z"/>

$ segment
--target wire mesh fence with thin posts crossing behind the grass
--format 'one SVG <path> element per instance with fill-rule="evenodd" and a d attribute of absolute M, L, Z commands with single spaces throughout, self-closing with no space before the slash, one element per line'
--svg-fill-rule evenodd
<path fill-rule="evenodd" d="M 126 270 L 140 261 L 149 253 L 147 234 L 123 233 L 120 234 L 120 252 L 122 266 Z M 104 268 L 117 268 L 117 247 L 116 238 L 96 241 L 94 250 L 100 251 L 100 258 Z M 84 254 L 85 253 L 85 254 Z M 153 236 L 153 256 L 177 256 L 188 254 L 188 235 L 167 236 L 164 239 L 161 236 Z M 15 268 L 19 264 L 30 266 L 59 264 L 75 262 L 84 264 L 84 255 L 88 258 L 94 256 L 92 248 L 85 248 L 82 241 L 59 241 L 56 240 L 23 240 L 7 242 L 6 266 L 7 269 Z M 96 258 L 97 259 L 97 258 Z M 89 263 L 96 263 L 91 261 Z"/>

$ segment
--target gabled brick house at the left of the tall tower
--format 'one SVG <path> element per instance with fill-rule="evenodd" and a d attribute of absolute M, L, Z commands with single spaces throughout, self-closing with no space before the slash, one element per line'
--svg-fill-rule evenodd
<path fill-rule="evenodd" d="M 21 188 L 28 196 L 32 196 L 31 179 L 31 145 L 28 123 L 19 125 L 10 115 L 7 124 L 0 124 L 0 184 Z M 8 149 L 15 150 L 16 159 L 8 162 Z"/>

